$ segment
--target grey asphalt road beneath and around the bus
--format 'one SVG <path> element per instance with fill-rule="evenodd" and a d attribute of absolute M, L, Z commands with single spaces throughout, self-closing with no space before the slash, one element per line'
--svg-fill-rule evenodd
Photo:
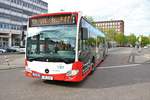
<path fill-rule="evenodd" d="M 128 63 L 131 51 L 110 50 L 81 83 L 26 78 L 23 68 L 0 70 L 0 100 L 150 100 L 150 64 Z"/>

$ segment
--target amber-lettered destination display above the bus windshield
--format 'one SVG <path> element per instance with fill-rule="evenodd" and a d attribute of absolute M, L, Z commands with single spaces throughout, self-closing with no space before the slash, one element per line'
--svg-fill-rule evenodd
<path fill-rule="evenodd" d="M 29 20 L 30 27 L 44 26 L 44 25 L 60 25 L 60 24 L 76 24 L 76 16 L 72 14 L 43 16 L 38 18 L 31 18 Z"/>

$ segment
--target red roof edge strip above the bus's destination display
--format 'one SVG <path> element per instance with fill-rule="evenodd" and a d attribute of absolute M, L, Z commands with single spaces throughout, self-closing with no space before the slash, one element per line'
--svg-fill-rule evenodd
<path fill-rule="evenodd" d="M 34 16 L 30 16 L 29 18 L 38 18 L 43 16 L 53 16 L 53 15 L 61 15 L 61 14 L 78 14 L 79 12 L 57 12 L 57 13 L 46 13 L 46 14 L 38 14 Z"/>

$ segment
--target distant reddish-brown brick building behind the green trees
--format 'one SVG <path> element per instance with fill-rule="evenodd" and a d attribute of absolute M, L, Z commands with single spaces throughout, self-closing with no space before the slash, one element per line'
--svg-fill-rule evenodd
<path fill-rule="evenodd" d="M 111 21 L 97 21 L 96 27 L 100 28 L 103 32 L 114 29 L 116 32 L 124 34 L 124 21 L 111 20 Z"/>

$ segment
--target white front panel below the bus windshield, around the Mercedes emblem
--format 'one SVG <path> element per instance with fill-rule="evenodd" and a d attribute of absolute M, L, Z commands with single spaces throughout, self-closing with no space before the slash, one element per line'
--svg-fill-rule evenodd
<path fill-rule="evenodd" d="M 49 69 L 48 74 L 64 74 L 72 70 L 72 64 L 65 64 L 62 62 L 40 62 L 32 61 L 28 62 L 26 70 L 36 71 L 45 74 L 45 69 Z"/>

